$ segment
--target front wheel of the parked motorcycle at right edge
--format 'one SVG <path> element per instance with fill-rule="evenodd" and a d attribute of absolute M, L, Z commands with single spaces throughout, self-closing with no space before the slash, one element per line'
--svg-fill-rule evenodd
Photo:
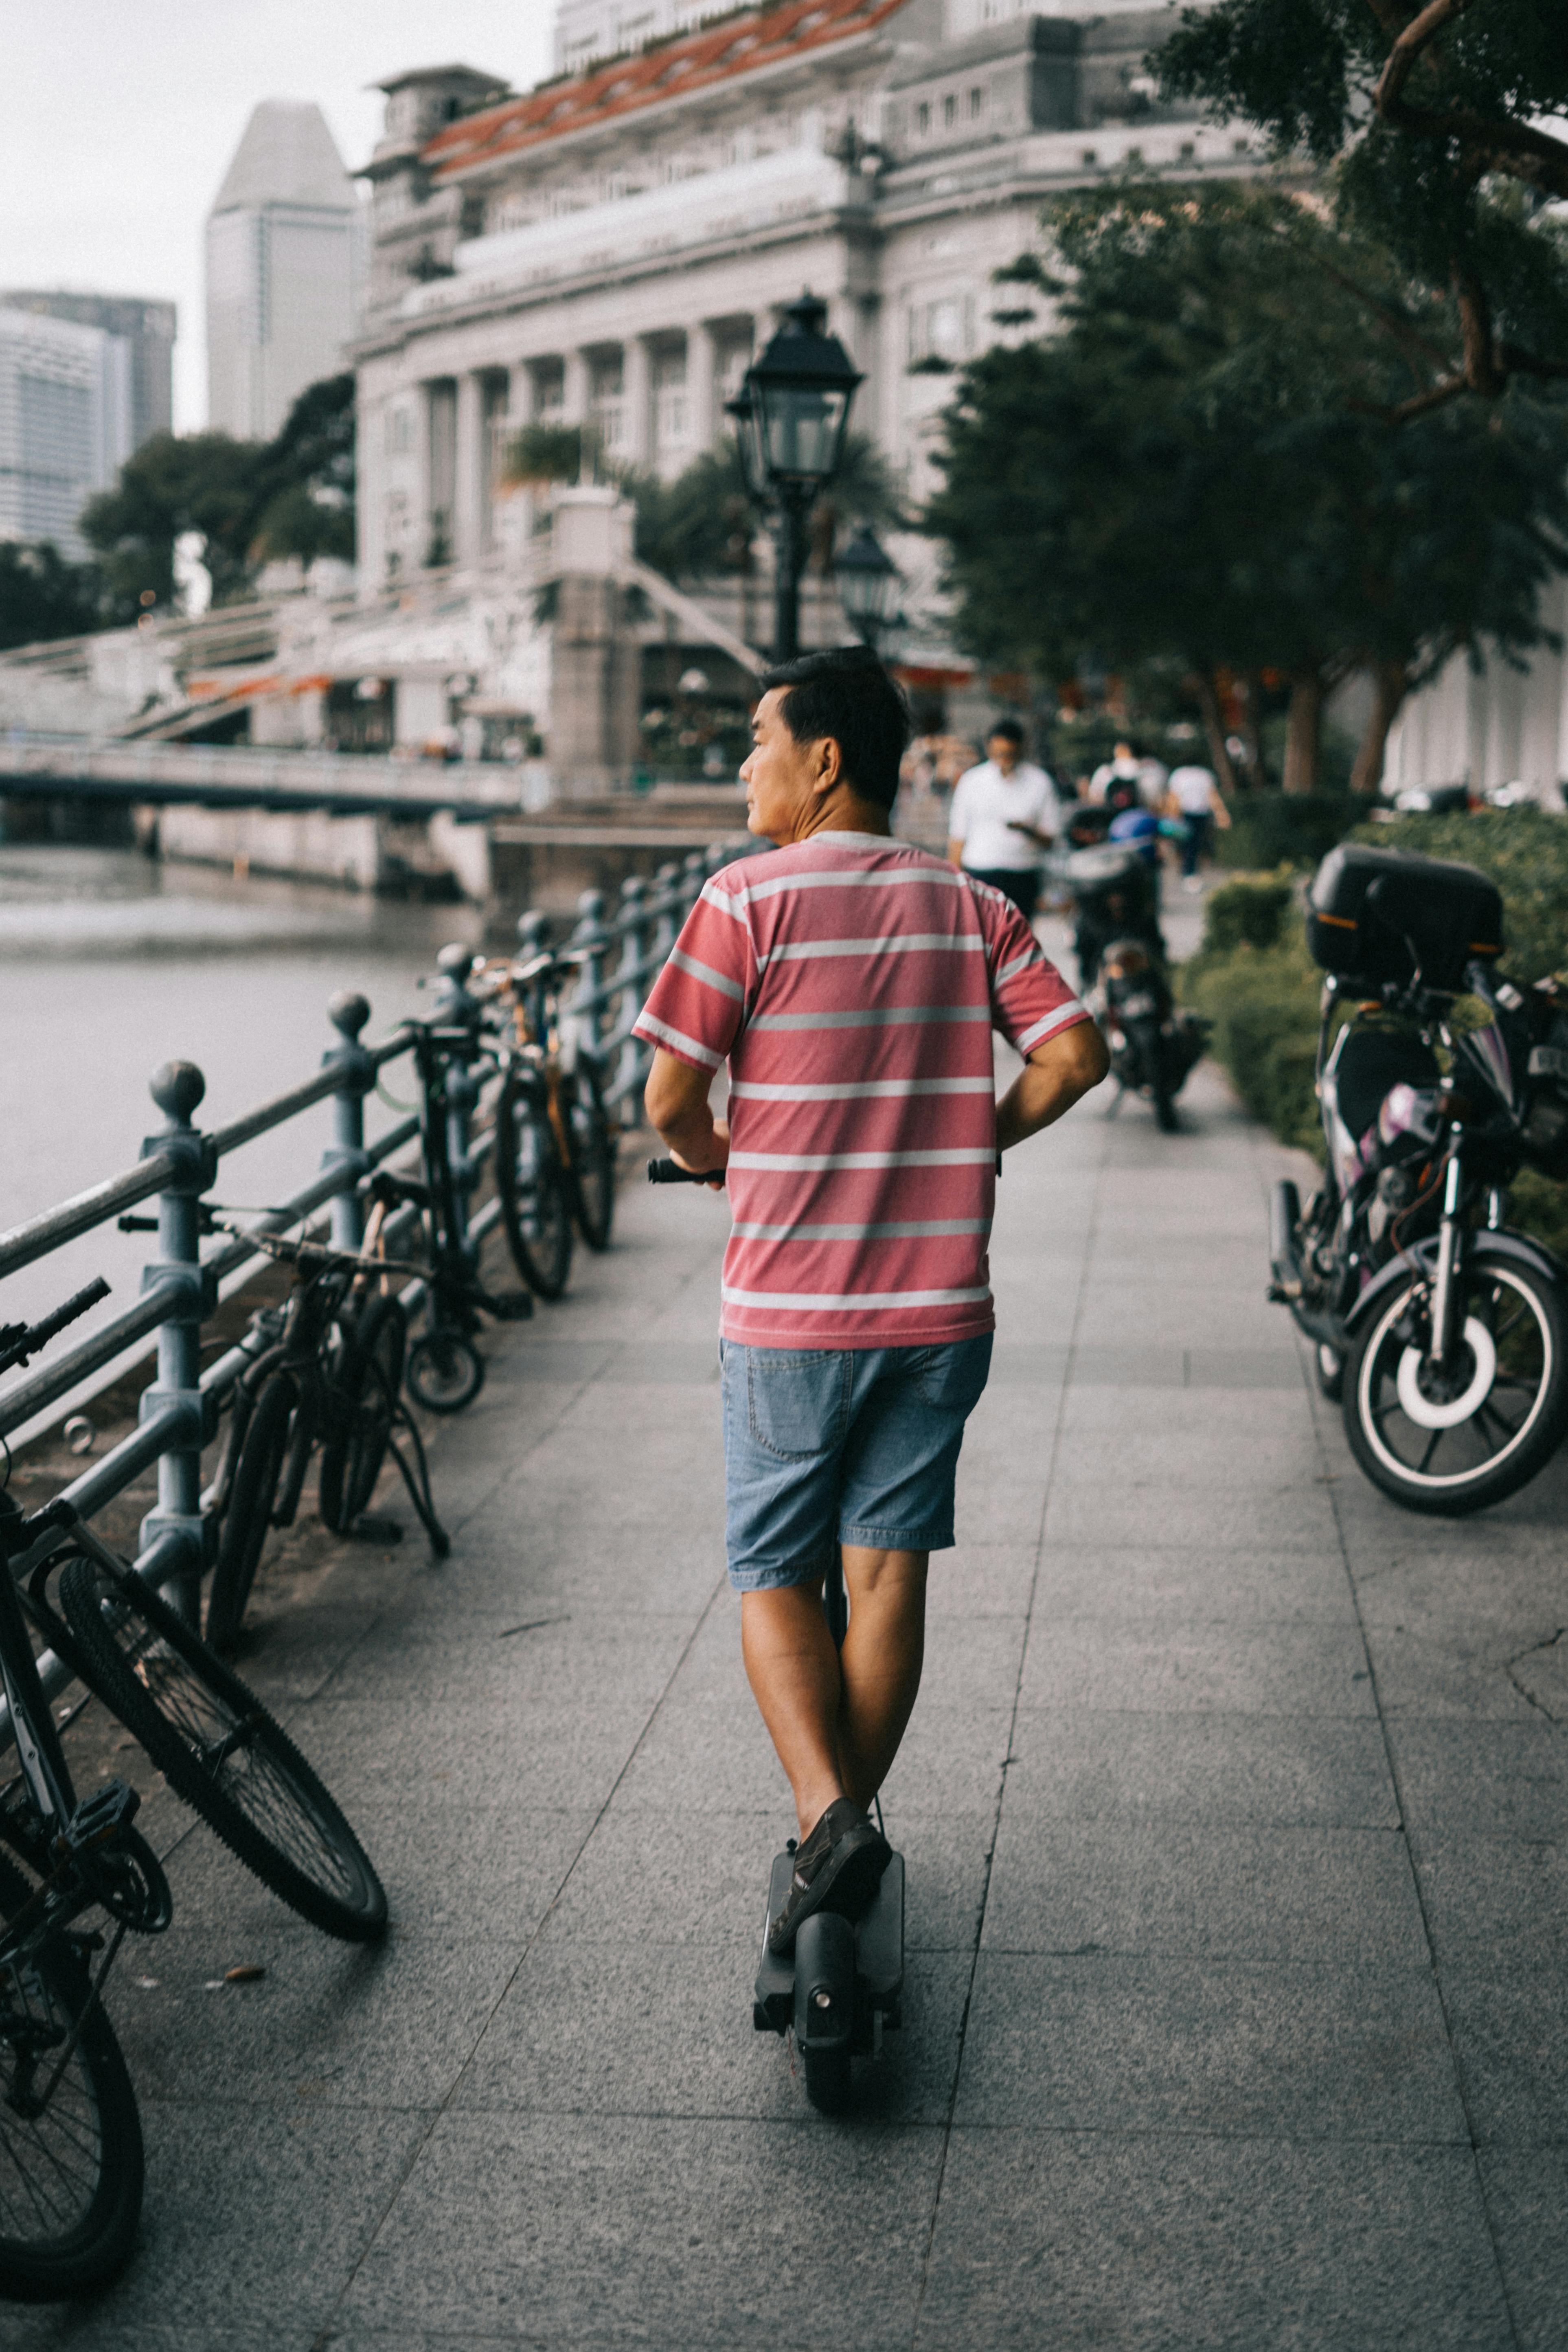
<path fill-rule="evenodd" d="M 1345 1357 L 1345 1437 L 1394 1503 L 1460 1519 L 1519 1494 L 1568 1430 L 1568 1303 L 1481 1242 L 1462 1275 L 1455 1364 L 1432 1378 L 1427 1277 L 1387 1294 Z"/>

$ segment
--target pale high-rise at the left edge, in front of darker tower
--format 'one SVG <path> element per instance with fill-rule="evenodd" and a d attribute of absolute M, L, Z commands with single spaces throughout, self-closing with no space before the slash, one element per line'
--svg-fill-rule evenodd
<path fill-rule="evenodd" d="M 132 346 L 0 306 L 0 539 L 87 555 L 75 520 L 132 454 Z"/>

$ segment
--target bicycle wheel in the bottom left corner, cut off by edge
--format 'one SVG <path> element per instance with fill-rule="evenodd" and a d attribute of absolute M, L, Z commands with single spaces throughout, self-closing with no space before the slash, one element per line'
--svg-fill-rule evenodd
<path fill-rule="evenodd" d="M 0 1860 L 0 1917 L 26 1900 L 26 1879 Z M 63 1940 L 0 1969 L 0 2296 L 16 2303 L 108 2286 L 136 2239 L 141 2119 L 101 2002 L 47 2105 L 28 2112 L 87 1997 L 87 1971 Z"/>

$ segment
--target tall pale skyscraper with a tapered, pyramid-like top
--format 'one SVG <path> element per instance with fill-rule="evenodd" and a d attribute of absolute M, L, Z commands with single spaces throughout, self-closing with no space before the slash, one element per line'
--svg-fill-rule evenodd
<path fill-rule="evenodd" d="M 270 440 L 343 367 L 360 207 L 320 106 L 263 99 L 207 216 L 207 416 Z"/>

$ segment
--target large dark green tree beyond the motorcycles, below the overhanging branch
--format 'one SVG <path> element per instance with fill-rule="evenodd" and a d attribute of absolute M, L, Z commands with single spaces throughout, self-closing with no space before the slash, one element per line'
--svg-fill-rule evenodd
<path fill-rule="evenodd" d="M 1403 694 L 1455 647 L 1542 642 L 1568 407 L 1514 390 L 1387 423 L 1410 362 L 1368 308 L 1422 332 L 1429 301 L 1286 191 L 1131 183 L 1048 226 L 1060 270 L 1006 278 L 1058 301 L 1058 332 L 969 369 L 926 515 L 971 649 L 1056 677 L 1180 659 L 1211 741 L 1215 673 L 1279 670 L 1291 790 L 1326 696 L 1368 670 L 1373 788 Z"/>

